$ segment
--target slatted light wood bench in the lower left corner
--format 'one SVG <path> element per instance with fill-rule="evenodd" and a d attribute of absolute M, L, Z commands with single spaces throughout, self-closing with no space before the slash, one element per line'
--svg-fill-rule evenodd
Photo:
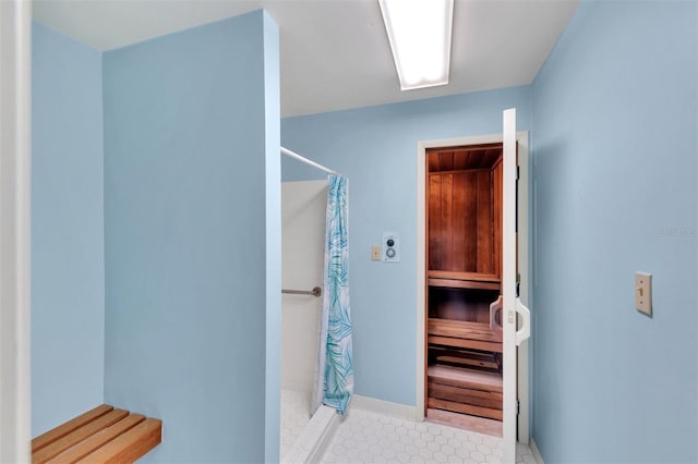
<path fill-rule="evenodd" d="M 32 440 L 32 462 L 132 463 L 161 439 L 161 420 L 103 404 Z"/>

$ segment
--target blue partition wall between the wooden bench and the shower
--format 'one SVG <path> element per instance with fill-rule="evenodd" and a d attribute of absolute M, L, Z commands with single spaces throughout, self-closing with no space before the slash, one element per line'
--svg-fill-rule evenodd
<path fill-rule="evenodd" d="M 163 418 L 144 462 L 278 460 L 277 34 L 257 11 L 104 56 L 105 399 Z"/>

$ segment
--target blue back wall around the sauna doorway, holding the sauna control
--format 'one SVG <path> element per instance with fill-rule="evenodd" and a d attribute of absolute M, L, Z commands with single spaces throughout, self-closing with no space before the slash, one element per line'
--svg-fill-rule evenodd
<path fill-rule="evenodd" d="M 530 130 L 530 86 L 281 121 L 285 147 L 349 178 L 356 393 L 414 405 L 417 143 L 501 133 L 512 107 L 519 130 Z M 281 166 L 284 180 L 323 178 L 298 161 Z M 371 260 L 383 231 L 400 234 L 400 262 Z"/>

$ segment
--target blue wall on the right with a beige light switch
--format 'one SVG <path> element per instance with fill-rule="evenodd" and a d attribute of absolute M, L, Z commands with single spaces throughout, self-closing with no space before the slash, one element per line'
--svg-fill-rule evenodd
<path fill-rule="evenodd" d="M 696 2 L 583 2 L 534 82 L 533 436 L 696 462 Z M 654 315 L 634 272 L 653 274 Z"/>

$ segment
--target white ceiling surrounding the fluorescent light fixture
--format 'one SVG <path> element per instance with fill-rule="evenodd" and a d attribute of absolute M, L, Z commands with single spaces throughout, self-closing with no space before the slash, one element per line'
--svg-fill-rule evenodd
<path fill-rule="evenodd" d="M 455 0 L 449 84 L 408 91 L 377 0 L 37 0 L 34 17 L 110 50 L 264 8 L 279 24 L 286 117 L 530 84 L 578 2 Z"/>

